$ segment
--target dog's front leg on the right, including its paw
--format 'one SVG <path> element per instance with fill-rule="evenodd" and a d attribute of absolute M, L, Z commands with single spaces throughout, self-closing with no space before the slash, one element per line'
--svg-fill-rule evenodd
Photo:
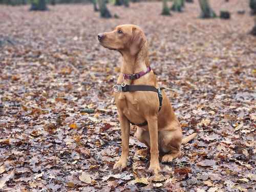
<path fill-rule="evenodd" d="M 159 165 L 159 151 L 158 151 L 158 127 L 157 116 L 153 116 L 147 119 L 148 131 L 150 132 L 150 170 L 154 174 L 158 174 L 160 171 Z"/>

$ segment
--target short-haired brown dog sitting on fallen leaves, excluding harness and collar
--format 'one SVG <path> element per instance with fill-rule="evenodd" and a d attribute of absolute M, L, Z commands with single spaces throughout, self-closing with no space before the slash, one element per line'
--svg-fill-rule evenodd
<path fill-rule="evenodd" d="M 120 74 L 117 83 L 123 85 L 147 85 L 158 88 L 148 59 L 147 41 L 143 31 L 135 25 L 117 26 L 114 31 L 98 34 L 100 45 L 117 50 L 123 57 L 121 72 L 136 74 L 144 72 L 136 79 L 125 79 Z M 180 123 L 164 91 L 162 91 L 162 108 L 160 99 L 152 91 L 114 92 L 121 124 L 122 154 L 114 169 L 122 170 L 127 166 L 129 156 L 130 122 L 146 125 L 138 126 L 136 137 L 150 147 L 151 160 L 149 169 L 155 174 L 160 170 L 159 151 L 165 155 L 162 162 L 170 162 L 181 156 L 180 145 L 196 137 L 196 133 L 182 139 Z"/>

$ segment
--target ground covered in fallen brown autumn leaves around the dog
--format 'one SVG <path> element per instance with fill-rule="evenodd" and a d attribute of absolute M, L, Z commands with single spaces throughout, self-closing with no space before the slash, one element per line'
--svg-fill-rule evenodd
<path fill-rule="evenodd" d="M 0 191 L 255 191 L 256 38 L 247 1 L 211 1 L 230 20 L 199 19 L 197 1 L 160 16 L 162 4 L 0 6 Z M 245 14 L 238 14 L 245 10 Z M 147 172 L 133 136 L 122 173 L 112 86 L 120 55 L 96 35 L 132 23 L 146 33 L 151 67 L 182 124 L 198 133 L 183 157 Z"/>

